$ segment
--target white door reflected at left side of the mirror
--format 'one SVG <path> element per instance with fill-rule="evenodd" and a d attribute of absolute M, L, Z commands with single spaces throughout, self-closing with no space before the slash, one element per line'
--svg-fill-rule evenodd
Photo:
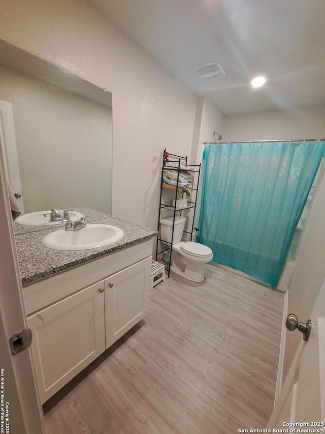
<path fill-rule="evenodd" d="M 0 100 L 0 142 L 4 156 L 6 178 L 13 193 L 21 195 L 21 197 L 17 197 L 17 200 L 23 213 L 24 202 L 18 164 L 14 114 L 11 102 L 3 100 Z"/>

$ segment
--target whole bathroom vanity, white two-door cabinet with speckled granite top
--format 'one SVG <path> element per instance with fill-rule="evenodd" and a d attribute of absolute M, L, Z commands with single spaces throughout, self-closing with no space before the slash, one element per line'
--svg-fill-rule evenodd
<path fill-rule="evenodd" d="M 42 245 L 53 228 L 16 235 L 42 403 L 148 312 L 156 232 L 109 216 L 92 223 L 120 227 L 124 236 L 100 248 L 58 251 Z"/>

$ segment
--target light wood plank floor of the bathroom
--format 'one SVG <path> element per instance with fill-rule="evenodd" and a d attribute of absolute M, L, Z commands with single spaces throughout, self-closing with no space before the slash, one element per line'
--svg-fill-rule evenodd
<path fill-rule="evenodd" d="M 273 408 L 283 293 L 208 265 L 44 404 L 47 434 L 231 434 Z"/>

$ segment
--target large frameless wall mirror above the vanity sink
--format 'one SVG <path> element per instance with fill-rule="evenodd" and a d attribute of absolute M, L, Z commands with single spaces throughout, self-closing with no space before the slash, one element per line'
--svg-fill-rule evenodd
<path fill-rule="evenodd" d="M 0 132 L 24 213 L 88 207 L 111 214 L 106 89 L 0 40 Z"/>

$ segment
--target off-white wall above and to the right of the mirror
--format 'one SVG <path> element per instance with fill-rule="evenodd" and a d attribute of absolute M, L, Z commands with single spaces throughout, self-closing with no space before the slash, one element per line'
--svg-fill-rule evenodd
<path fill-rule="evenodd" d="M 112 214 L 156 228 L 162 151 L 190 154 L 196 97 L 83 0 L 1 1 L 0 38 L 113 93 Z"/>

